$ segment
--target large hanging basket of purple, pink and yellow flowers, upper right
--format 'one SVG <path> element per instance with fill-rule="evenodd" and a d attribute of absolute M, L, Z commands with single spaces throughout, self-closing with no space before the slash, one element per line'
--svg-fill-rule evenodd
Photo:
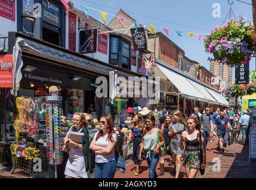
<path fill-rule="evenodd" d="M 205 37 L 204 45 L 205 51 L 214 56 L 208 58 L 210 62 L 229 66 L 246 64 L 255 51 L 254 26 L 246 25 L 243 17 L 239 17 L 239 21 L 230 20 L 223 26 L 216 26 Z"/>

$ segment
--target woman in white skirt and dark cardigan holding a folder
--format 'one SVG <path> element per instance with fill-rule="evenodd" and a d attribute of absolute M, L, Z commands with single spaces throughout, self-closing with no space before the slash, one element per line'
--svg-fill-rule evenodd
<path fill-rule="evenodd" d="M 66 178 L 90 178 L 91 154 L 88 122 L 84 114 L 74 113 L 73 125 L 64 138 L 64 144 L 69 146 L 69 159 L 67 160 L 64 174 Z M 70 139 L 70 132 L 81 132 L 84 134 L 82 142 L 74 142 Z"/>

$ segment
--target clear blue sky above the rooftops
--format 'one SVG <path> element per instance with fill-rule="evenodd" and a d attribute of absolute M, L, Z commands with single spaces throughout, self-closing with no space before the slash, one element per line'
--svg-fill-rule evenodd
<path fill-rule="evenodd" d="M 116 14 L 119 8 L 126 11 L 131 17 L 138 21 L 138 23 L 144 24 L 149 29 L 149 24 L 171 29 L 184 31 L 182 37 L 179 37 L 175 31 L 170 32 L 169 39 L 181 47 L 185 51 L 185 55 L 199 63 L 205 63 L 203 66 L 209 69 L 209 62 L 207 61 L 210 54 L 205 52 L 203 47 L 203 40 L 198 40 L 198 36 L 190 37 L 187 35 L 189 32 L 198 34 L 207 34 L 209 30 L 214 29 L 216 25 L 222 25 L 223 21 L 229 11 L 230 5 L 227 0 L 162 0 L 162 1 L 149 1 L 149 0 L 72 0 L 77 4 L 82 4 L 91 8 L 99 9 L 110 14 Z M 251 0 L 241 0 L 251 4 Z M 212 5 L 220 4 L 220 17 L 212 17 Z M 112 7 L 112 8 L 109 8 Z M 116 9 L 115 9 L 116 8 Z M 238 18 L 239 15 L 243 15 L 245 20 L 252 21 L 252 9 L 251 5 L 243 4 L 242 2 L 233 0 L 232 5 L 233 12 Z M 136 14 L 133 14 L 134 12 Z M 88 12 L 91 17 L 102 21 L 100 14 L 97 11 L 89 9 Z M 137 15 L 140 14 L 140 15 Z M 143 17 L 145 15 L 147 17 Z M 155 20 L 153 17 L 159 20 Z M 113 16 L 107 17 L 107 22 L 112 20 Z M 186 26 L 180 26 L 178 24 Z M 199 29 L 194 29 L 192 26 Z M 204 29 L 204 30 L 200 30 Z M 156 29 L 156 31 L 162 31 L 162 29 Z M 250 62 L 250 70 L 255 69 L 255 58 L 252 58 Z"/>

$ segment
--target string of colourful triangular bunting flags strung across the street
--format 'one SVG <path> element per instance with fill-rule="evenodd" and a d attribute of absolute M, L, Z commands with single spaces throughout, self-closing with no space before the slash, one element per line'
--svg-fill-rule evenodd
<path fill-rule="evenodd" d="M 69 1 L 69 0 L 61 0 L 61 2 L 68 2 L 68 1 Z M 77 3 L 75 3 L 75 4 L 77 4 Z M 79 6 L 82 8 L 82 11 L 84 12 L 84 14 L 85 14 L 87 17 L 88 17 L 88 12 L 89 12 L 88 9 L 92 9 L 92 10 L 94 10 L 94 11 L 98 11 L 99 14 L 100 14 L 100 16 L 101 16 L 101 18 L 102 18 L 102 20 L 103 20 L 103 23 L 104 23 L 105 25 L 106 25 L 106 23 L 107 23 L 107 17 L 108 17 L 108 15 L 112 15 L 113 17 L 118 18 L 118 21 L 119 21 L 119 23 L 122 25 L 123 28 L 125 27 L 125 26 L 124 26 L 125 20 L 126 20 L 126 19 L 127 19 L 127 20 L 130 20 L 130 21 L 132 21 L 132 22 L 134 23 L 134 27 L 135 27 L 135 29 L 136 29 L 135 32 L 137 32 L 137 28 L 139 27 L 139 24 L 138 24 L 137 21 L 131 20 L 131 19 L 129 19 L 129 18 L 124 18 L 124 17 L 118 16 L 118 15 L 113 15 L 113 14 L 110 14 L 110 13 L 108 13 L 108 12 L 100 11 L 100 10 L 95 9 L 95 8 L 87 7 L 87 6 L 85 6 L 85 5 L 80 5 L 80 4 L 77 4 L 77 5 L 79 5 Z M 168 36 L 170 36 L 170 31 L 175 31 L 175 33 L 176 33 L 178 36 L 180 36 L 180 37 L 183 37 L 183 33 L 186 33 L 186 32 L 184 32 L 184 31 L 171 30 L 171 29 L 167 29 L 167 28 L 163 28 L 163 27 L 158 27 L 158 26 L 154 26 L 154 25 L 152 25 L 152 24 L 149 24 L 150 33 L 156 34 L 156 31 L 155 31 L 156 28 L 159 28 L 159 29 L 164 30 L 165 33 L 166 33 Z M 199 40 L 199 41 L 202 39 L 203 36 L 206 36 L 205 34 L 196 34 L 196 33 L 192 33 L 192 32 L 187 33 L 187 35 L 190 36 L 190 37 L 198 36 L 198 40 Z"/>

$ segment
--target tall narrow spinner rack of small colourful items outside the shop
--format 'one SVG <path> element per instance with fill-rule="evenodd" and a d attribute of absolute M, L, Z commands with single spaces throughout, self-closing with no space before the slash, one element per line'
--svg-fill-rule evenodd
<path fill-rule="evenodd" d="M 49 164 L 55 166 L 55 178 L 57 178 L 57 165 L 63 162 L 64 140 L 61 138 L 63 127 L 60 117 L 63 115 L 61 96 L 46 96 L 46 115 L 47 124 L 47 159 Z"/>

